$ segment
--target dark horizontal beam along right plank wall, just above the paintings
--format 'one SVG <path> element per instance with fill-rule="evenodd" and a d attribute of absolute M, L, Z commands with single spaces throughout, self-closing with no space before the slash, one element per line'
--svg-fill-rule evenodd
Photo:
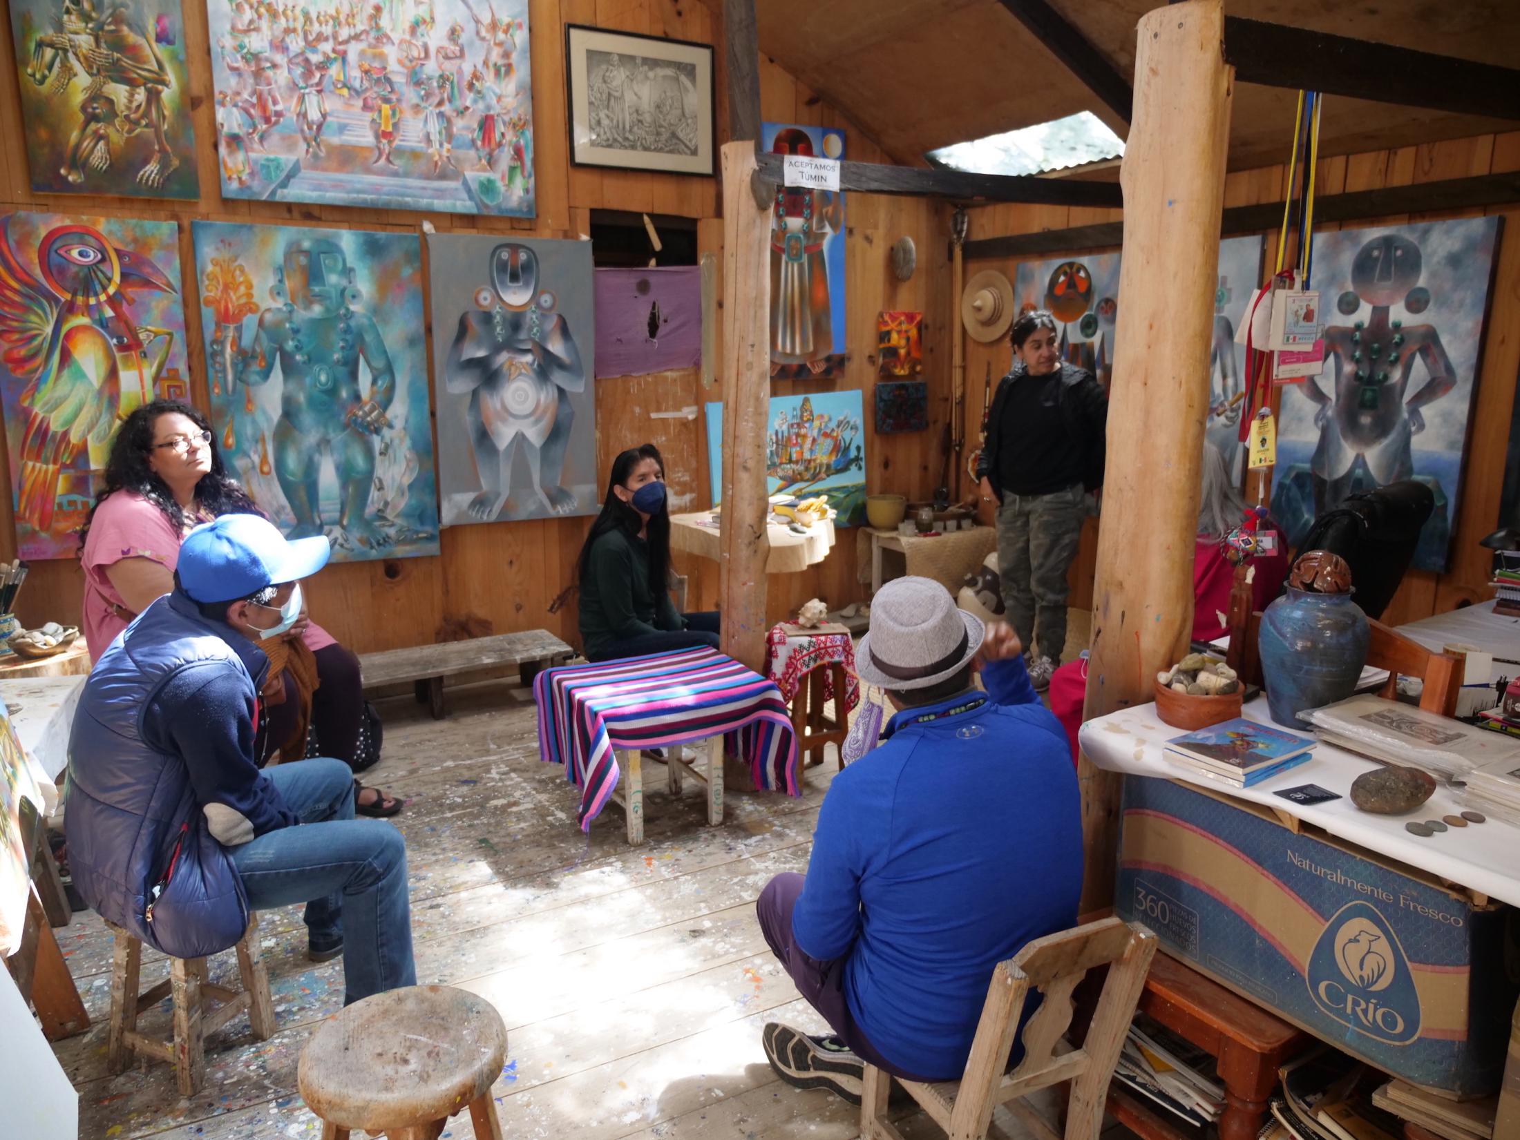
<path fill-rule="evenodd" d="M 1439 182 L 1392 185 L 1382 190 L 1354 190 L 1315 199 L 1316 222 L 1357 222 L 1392 214 L 1418 214 L 1430 210 L 1471 210 L 1520 202 L 1520 172 L 1449 178 Z M 1283 222 L 1283 202 L 1237 205 L 1221 217 L 1222 234 L 1274 231 Z M 1031 257 L 1107 249 L 1123 243 L 1123 222 L 1078 225 L 1067 230 L 1041 230 L 1032 234 L 983 237 L 967 242 L 964 257 Z"/>

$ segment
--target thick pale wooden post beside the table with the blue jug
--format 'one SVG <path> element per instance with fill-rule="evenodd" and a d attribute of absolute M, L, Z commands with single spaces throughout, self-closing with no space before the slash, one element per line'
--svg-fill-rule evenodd
<path fill-rule="evenodd" d="M 1087 719 L 1149 701 L 1157 672 L 1186 652 L 1192 632 L 1234 82 L 1222 41 L 1222 0 L 1186 0 L 1140 20 Z M 1120 781 L 1085 757 L 1079 775 L 1085 914 L 1113 900 Z"/>

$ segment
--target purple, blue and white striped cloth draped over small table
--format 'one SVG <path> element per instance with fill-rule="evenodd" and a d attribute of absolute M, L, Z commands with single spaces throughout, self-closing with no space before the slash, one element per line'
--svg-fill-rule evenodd
<path fill-rule="evenodd" d="M 716 649 L 681 649 L 534 678 L 538 754 L 581 789 L 581 830 L 617 787 L 614 749 L 669 748 L 737 734 L 755 787 L 801 795 L 792 714 L 772 681 Z"/>

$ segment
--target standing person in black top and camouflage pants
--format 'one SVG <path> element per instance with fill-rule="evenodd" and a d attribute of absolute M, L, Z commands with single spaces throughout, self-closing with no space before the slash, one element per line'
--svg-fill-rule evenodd
<path fill-rule="evenodd" d="M 1104 483 L 1108 395 L 1061 360 L 1055 318 L 1014 321 L 1014 366 L 997 385 L 977 462 L 982 497 L 997 503 L 997 564 L 1008 620 L 1029 651 L 1035 689 L 1066 651 L 1067 570 Z"/>

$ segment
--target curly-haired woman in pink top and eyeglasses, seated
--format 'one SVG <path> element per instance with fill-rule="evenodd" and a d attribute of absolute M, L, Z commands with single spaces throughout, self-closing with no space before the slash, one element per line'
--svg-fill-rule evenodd
<path fill-rule="evenodd" d="M 198 409 L 155 400 L 117 429 L 105 483 L 81 530 L 85 572 L 84 628 L 90 660 L 155 599 L 173 590 L 179 543 L 201 523 L 225 514 L 263 512 L 228 473 L 211 423 Z M 307 652 L 293 646 L 299 643 Z M 260 755 L 306 755 L 302 720 L 316 734 L 321 755 L 362 771 L 378 758 L 378 725 L 369 724 L 359 658 L 307 617 L 271 638 L 269 681 Z M 278 667 L 275 664 L 278 663 Z M 302 713 L 309 716 L 302 717 Z M 360 815 L 391 816 L 401 801 L 357 784 Z"/>

